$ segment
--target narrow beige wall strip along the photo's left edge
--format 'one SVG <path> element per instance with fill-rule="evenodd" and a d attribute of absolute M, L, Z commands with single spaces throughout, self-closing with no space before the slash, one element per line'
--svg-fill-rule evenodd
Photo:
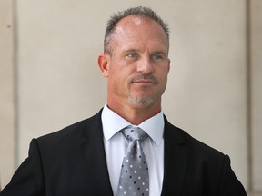
<path fill-rule="evenodd" d="M 13 2 L 0 1 L 0 185 L 14 172 Z"/>

